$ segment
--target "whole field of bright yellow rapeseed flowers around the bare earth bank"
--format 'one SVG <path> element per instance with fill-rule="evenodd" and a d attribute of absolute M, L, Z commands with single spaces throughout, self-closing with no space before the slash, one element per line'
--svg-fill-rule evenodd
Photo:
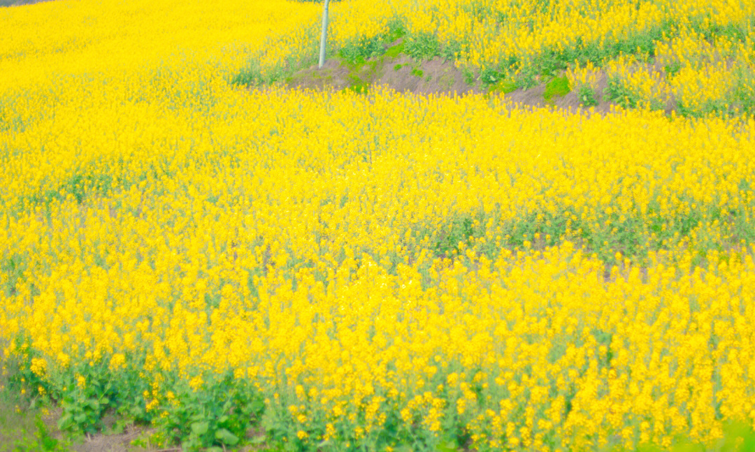
<path fill-rule="evenodd" d="M 333 45 L 540 5 L 498 3 L 334 2 Z M 621 29 L 630 3 L 596 20 Z M 0 9 L 0 346 L 62 429 L 112 412 L 187 450 L 254 427 L 286 450 L 565 452 L 755 427 L 752 117 L 230 82 L 310 58 L 321 8 Z M 533 14 L 537 42 L 568 47 L 569 11 Z M 460 66 L 506 54 L 447 17 Z M 658 55 L 707 45 L 680 36 Z"/>

